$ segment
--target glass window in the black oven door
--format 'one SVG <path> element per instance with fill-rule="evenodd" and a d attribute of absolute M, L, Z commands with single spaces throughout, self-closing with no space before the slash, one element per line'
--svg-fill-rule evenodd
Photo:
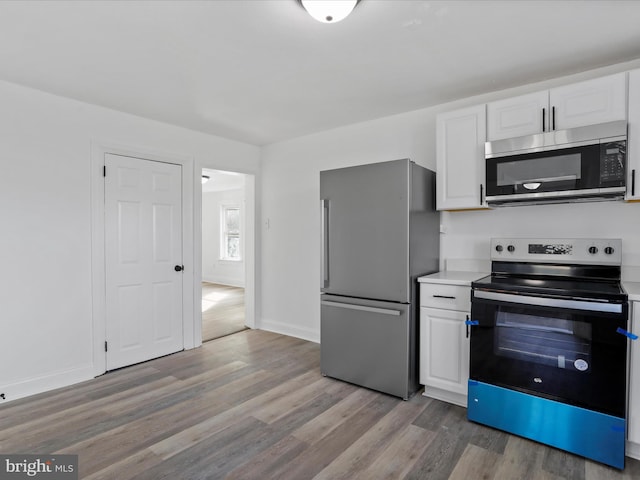
<path fill-rule="evenodd" d="M 494 348 L 499 356 L 587 373 L 591 324 L 569 315 L 537 316 L 500 307 Z"/>

